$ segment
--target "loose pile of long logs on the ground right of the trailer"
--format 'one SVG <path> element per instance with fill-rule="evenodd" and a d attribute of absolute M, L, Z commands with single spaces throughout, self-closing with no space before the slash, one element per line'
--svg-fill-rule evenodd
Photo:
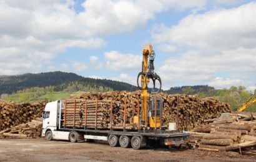
<path fill-rule="evenodd" d="M 204 151 L 239 151 L 254 154 L 256 148 L 256 118 L 225 113 L 224 117 L 205 120 L 206 125 L 194 128 L 189 143 Z M 248 151 L 248 149 L 251 149 Z M 247 149 L 247 150 L 245 150 Z"/>

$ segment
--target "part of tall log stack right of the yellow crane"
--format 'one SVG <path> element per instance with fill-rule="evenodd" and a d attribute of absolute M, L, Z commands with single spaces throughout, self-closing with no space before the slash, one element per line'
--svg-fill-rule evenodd
<path fill-rule="evenodd" d="M 220 117 L 221 113 L 230 112 L 229 105 L 216 98 L 200 99 L 195 95 L 163 95 L 164 124 L 177 123 L 179 130 L 192 130 L 202 125 L 207 118 Z"/>

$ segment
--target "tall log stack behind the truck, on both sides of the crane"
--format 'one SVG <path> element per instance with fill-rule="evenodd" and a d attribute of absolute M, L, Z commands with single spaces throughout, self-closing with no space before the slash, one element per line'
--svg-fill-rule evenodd
<path fill-rule="evenodd" d="M 193 128 L 200 126 L 207 118 L 220 117 L 221 113 L 230 112 L 229 105 L 222 103 L 216 98 L 204 98 L 200 99 L 195 95 L 166 95 L 160 93 L 157 97 L 162 97 L 163 110 L 162 110 L 162 123 L 167 126 L 169 122 L 177 123 L 179 130 L 192 130 Z M 122 125 L 124 123 L 124 102 L 126 100 L 127 113 L 126 122 L 130 122 L 132 119 L 132 107 L 135 107 L 135 113 L 137 110 L 137 100 L 140 104 L 140 91 L 126 92 L 126 91 L 114 91 L 106 93 L 79 93 L 71 95 L 73 99 L 84 100 L 113 100 L 113 114 L 115 117 L 115 125 Z M 119 102 L 119 105 L 115 105 Z M 141 108 L 141 105 L 140 105 Z M 150 110 L 148 110 L 150 111 Z M 110 115 L 107 115 L 107 123 L 104 126 L 109 126 Z"/>

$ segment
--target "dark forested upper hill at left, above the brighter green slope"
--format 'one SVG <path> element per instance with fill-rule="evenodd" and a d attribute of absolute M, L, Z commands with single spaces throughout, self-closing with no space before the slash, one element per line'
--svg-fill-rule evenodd
<path fill-rule="evenodd" d="M 106 79 L 84 78 L 74 73 L 67 72 L 45 72 L 39 74 L 10 75 L 0 77 L 0 95 L 11 94 L 19 90 L 26 90 L 32 87 L 54 86 L 54 91 L 60 92 L 64 88 L 72 87 L 74 90 L 82 90 L 82 87 L 108 87 L 112 90 L 136 90 L 137 87 L 129 83 L 117 82 Z M 79 89 L 81 88 L 81 89 Z"/>

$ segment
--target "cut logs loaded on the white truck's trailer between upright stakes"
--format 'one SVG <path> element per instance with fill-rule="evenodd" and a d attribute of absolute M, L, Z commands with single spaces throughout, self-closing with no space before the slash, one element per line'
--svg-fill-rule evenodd
<path fill-rule="evenodd" d="M 128 103 L 125 100 L 127 112 L 136 112 L 137 103 Z M 111 105 L 112 105 L 112 125 L 111 125 Z M 66 118 L 66 123 L 62 126 L 66 128 L 121 128 L 124 123 L 124 105 L 121 102 L 112 100 L 84 100 L 67 99 L 65 100 L 66 111 L 62 118 Z M 130 123 L 130 113 L 126 114 L 126 123 Z M 96 124 L 97 123 L 97 124 Z"/>

